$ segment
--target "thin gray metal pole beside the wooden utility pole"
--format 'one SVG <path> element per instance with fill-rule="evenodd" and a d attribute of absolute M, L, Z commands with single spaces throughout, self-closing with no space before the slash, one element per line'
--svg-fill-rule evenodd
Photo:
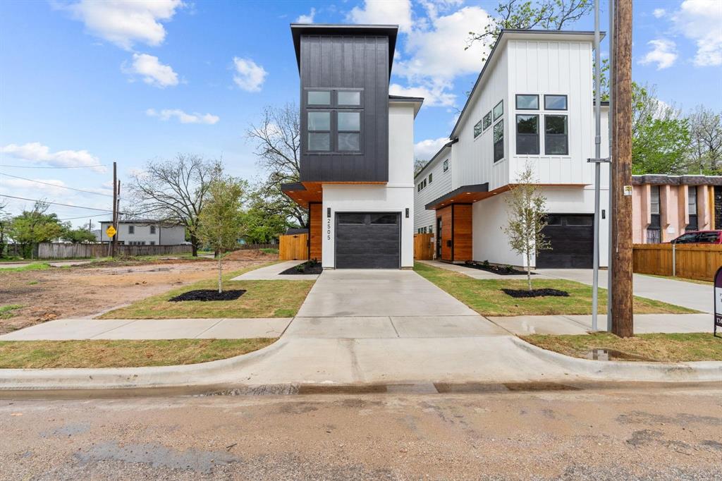
<path fill-rule="evenodd" d="M 594 264 L 591 293 L 591 329 L 597 330 L 599 311 L 599 180 L 601 165 L 601 52 L 599 51 L 599 0 L 594 0 Z"/>

